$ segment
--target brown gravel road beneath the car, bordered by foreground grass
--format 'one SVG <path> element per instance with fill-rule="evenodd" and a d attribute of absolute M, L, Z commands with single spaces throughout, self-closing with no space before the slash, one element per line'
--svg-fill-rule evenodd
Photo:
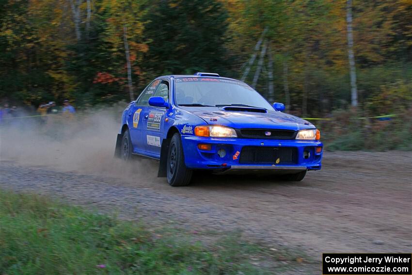
<path fill-rule="evenodd" d="M 156 178 L 156 162 L 114 173 L 1 161 L 1 187 L 35 192 L 182 230 L 241 231 L 268 245 L 321 252 L 411 252 L 411 152 L 326 152 L 302 182 L 200 175 L 189 187 Z M 86 165 L 87 166 L 87 165 Z M 137 168 L 136 168 L 137 167 Z M 139 173 L 135 173 L 140 171 Z M 106 173 L 105 173 L 106 172 Z"/>

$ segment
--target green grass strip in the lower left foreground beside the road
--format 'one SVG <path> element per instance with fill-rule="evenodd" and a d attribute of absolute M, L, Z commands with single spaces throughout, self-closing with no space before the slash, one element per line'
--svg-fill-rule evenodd
<path fill-rule="evenodd" d="M 0 274 L 272 274 L 307 262 L 237 235 L 205 246 L 173 230 L 159 235 L 47 197 L 0 191 Z"/>

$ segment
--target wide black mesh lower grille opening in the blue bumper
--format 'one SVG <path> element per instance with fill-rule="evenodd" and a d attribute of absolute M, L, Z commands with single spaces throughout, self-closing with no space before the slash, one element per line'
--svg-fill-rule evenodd
<path fill-rule="evenodd" d="M 276 163 L 276 160 L 279 162 Z M 244 146 L 240 153 L 239 163 L 259 164 L 296 164 L 298 149 L 296 147 Z"/>

